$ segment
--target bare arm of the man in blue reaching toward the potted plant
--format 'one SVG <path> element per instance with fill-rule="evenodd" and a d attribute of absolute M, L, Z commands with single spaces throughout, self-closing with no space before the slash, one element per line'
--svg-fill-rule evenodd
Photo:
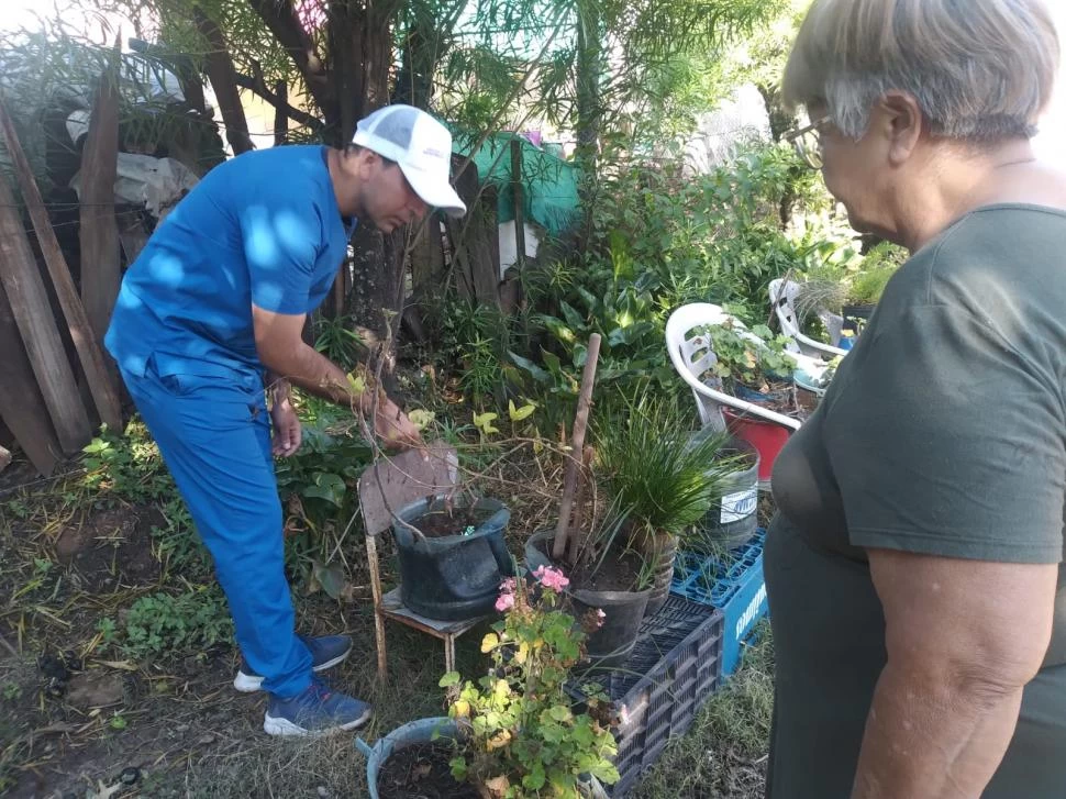
<path fill-rule="evenodd" d="M 375 411 L 374 428 L 379 436 L 417 444 L 418 430 L 384 391 L 377 392 L 368 385 L 367 390 L 356 392 L 344 369 L 308 346 L 301 335 L 304 318 L 306 314 L 274 313 L 252 306 L 255 346 L 268 374 L 353 410 Z"/>

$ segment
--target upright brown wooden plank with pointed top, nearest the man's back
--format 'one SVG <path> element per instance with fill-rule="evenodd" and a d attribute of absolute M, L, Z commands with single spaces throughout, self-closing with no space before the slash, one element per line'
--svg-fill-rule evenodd
<path fill-rule="evenodd" d="M 81 301 L 96 340 L 103 343 L 122 279 L 114 182 L 119 165 L 119 91 L 110 68 L 100 85 L 81 152 Z"/>

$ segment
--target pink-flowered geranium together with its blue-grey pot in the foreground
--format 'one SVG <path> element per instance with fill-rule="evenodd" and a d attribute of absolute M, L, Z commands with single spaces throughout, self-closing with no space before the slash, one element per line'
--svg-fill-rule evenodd
<path fill-rule="evenodd" d="M 434 784 L 402 796 L 606 799 L 601 784 L 619 778 L 610 702 L 598 693 L 582 697 L 587 712 L 575 713 L 565 687 L 601 615 L 575 619 L 564 609 L 567 578 L 552 568 L 538 571 L 535 587 L 513 578 L 502 584 L 497 607 L 503 619 L 481 641 L 491 659 L 487 674 L 477 681 L 456 672 L 442 677 L 447 719 L 400 728 L 373 750 L 363 744 L 373 799 L 401 796 L 386 790 L 411 781 L 414 747 L 423 758 L 418 776 L 432 775 Z"/>

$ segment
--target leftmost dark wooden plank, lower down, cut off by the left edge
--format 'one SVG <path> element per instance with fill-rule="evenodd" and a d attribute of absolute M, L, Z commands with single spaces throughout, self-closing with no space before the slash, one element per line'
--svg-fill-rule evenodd
<path fill-rule="evenodd" d="M 42 475 L 52 474 L 59 459 L 56 441 L 44 398 L 33 376 L 33 367 L 22 345 L 19 325 L 0 284 L 0 417 L 25 452 L 30 463 Z"/>

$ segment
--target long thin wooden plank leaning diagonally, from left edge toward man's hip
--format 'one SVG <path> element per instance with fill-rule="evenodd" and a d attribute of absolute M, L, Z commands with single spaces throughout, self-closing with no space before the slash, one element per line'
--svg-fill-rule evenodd
<path fill-rule="evenodd" d="M 19 188 L 22 191 L 22 199 L 26 203 L 30 219 L 33 221 L 37 245 L 41 247 L 45 265 L 48 267 L 48 275 L 52 277 L 52 285 L 59 300 L 59 307 L 63 309 L 70 339 L 81 362 L 81 369 L 85 371 L 86 380 L 89 384 L 97 412 L 100 414 L 100 420 L 109 428 L 122 430 L 122 403 L 119 399 L 118 387 L 108 370 L 103 349 L 92 334 L 89 317 L 86 314 L 85 307 L 81 304 L 78 291 L 74 286 L 70 268 L 67 266 L 63 249 L 59 247 L 59 242 L 52 228 L 52 221 L 48 219 L 48 212 L 44 207 L 37 181 L 33 177 L 30 162 L 26 160 L 11 116 L 2 101 L 0 101 L 0 135 L 2 135 L 10 154 L 15 177 L 19 179 Z M 4 186 L 4 191 L 10 196 L 7 186 Z M 22 226 L 21 220 L 19 226 L 20 229 Z"/>

